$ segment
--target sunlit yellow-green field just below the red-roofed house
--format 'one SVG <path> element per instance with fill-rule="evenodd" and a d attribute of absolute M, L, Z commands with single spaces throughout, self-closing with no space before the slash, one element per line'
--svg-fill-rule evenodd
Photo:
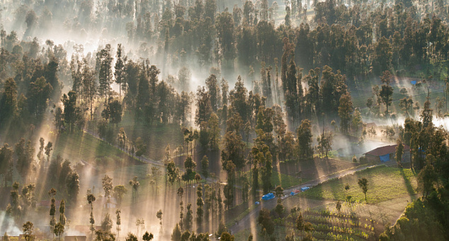
<path fill-rule="evenodd" d="M 344 200 L 346 196 L 344 186 L 349 184 L 348 195 L 352 196 L 351 200 L 362 201 L 365 200 L 365 195 L 357 182 L 363 177 L 368 179 L 367 203 L 380 203 L 400 196 L 416 194 L 416 175 L 410 169 L 382 166 L 326 181 L 302 195 L 305 198 Z"/>

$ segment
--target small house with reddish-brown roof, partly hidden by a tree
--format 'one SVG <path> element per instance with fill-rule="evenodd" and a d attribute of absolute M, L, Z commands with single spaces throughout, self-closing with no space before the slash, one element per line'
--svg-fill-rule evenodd
<path fill-rule="evenodd" d="M 402 162 L 410 162 L 410 147 L 404 145 L 404 154 L 402 155 Z M 365 158 L 368 162 L 390 162 L 394 160 L 396 156 L 397 145 L 386 145 L 383 147 L 377 147 L 374 150 L 370 150 L 365 153 Z"/>

